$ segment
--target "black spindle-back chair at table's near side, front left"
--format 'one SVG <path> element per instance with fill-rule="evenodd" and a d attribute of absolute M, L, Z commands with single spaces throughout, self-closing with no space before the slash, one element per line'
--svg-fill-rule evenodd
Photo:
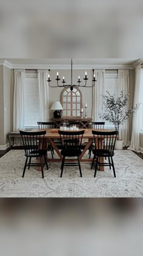
<path fill-rule="evenodd" d="M 47 164 L 47 150 L 44 149 L 44 137 L 46 134 L 46 131 L 42 132 L 23 132 L 19 131 L 22 137 L 22 142 L 24 144 L 24 150 L 25 150 L 25 166 L 22 177 L 24 178 L 25 169 L 28 166 L 28 169 L 30 169 L 30 166 L 41 166 L 42 171 L 42 178 L 44 179 L 44 171 L 43 171 L 43 163 L 42 158 L 44 157 L 45 165 L 48 170 L 48 164 Z M 39 148 L 40 143 L 40 148 Z M 31 163 L 32 158 L 40 158 L 40 163 Z M 28 161 L 29 159 L 29 161 Z"/>

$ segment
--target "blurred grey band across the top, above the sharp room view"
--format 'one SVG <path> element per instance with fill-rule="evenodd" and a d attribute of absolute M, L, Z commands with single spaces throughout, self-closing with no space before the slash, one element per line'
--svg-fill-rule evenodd
<path fill-rule="evenodd" d="M 142 13 L 142 0 L 1 1 L 0 57 L 125 58 L 130 63 L 143 56 Z M 135 59 L 126 59 L 130 57 Z M 28 59 L 12 61 L 40 63 Z M 56 59 L 49 61 L 55 63 Z M 68 59 L 60 59 L 60 63 L 64 61 L 69 63 Z M 112 62 L 87 59 L 87 63 L 92 61 Z"/>

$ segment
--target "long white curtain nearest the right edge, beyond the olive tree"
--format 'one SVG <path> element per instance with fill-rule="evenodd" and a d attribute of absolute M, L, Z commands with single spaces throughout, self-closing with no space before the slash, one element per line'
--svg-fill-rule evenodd
<path fill-rule="evenodd" d="M 136 104 L 141 103 L 141 66 L 136 67 L 136 85 L 134 96 L 134 107 Z M 141 108 L 141 107 L 140 107 Z M 139 152 L 139 133 L 140 133 L 140 108 L 133 116 L 133 130 L 131 136 L 131 145 L 128 149 Z"/>

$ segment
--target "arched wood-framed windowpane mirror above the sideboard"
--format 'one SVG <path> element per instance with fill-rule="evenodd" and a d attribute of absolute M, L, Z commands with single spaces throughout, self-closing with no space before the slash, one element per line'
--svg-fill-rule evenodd
<path fill-rule="evenodd" d="M 63 117 L 81 116 L 82 96 L 79 89 L 73 88 L 73 91 L 71 91 L 70 87 L 65 88 L 62 91 L 61 102 L 63 107 Z"/>

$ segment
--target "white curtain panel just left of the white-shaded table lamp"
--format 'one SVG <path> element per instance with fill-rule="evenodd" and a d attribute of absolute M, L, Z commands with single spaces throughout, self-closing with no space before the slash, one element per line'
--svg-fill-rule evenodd
<path fill-rule="evenodd" d="M 48 70 L 38 70 L 39 83 L 39 121 L 46 122 L 49 118 L 48 107 Z"/>

